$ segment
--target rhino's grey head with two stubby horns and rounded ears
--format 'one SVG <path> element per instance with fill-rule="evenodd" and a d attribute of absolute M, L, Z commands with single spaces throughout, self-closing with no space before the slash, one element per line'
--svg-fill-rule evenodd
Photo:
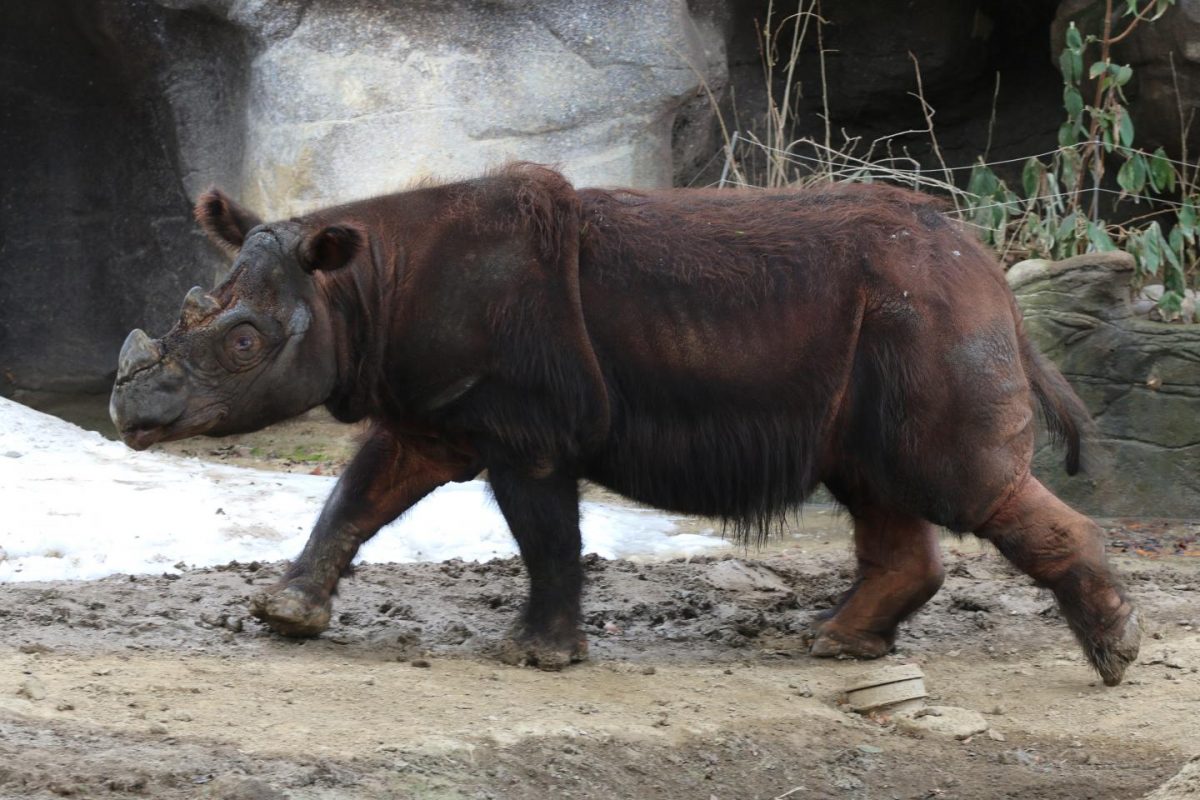
<path fill-rule="evenodd" d="M 200 197 L 196 217 L 235 259 L 211 293 L 187 293 L 166 336 L 134 330 L 125 339 L 109 414 L 134 450 L 257 431 L 325 402 L 337 381 L 319 272 L 349 264 L 364 249 L 364 231 L 296 219 L 263 224 L 217 190 Z"/>

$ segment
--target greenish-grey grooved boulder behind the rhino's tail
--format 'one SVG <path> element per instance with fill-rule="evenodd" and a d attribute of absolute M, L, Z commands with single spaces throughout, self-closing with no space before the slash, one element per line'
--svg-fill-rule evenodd
<path fill-rule="evenodd" d="M 1042 446 L 1034 471 L 1097 516 L 1200 516 L 1200 325 L 1160 323 L 1135 307 L 1133 259 L 1092 253 L 1022 261 L 1008 282 L 1025 327 L 1096 419 L 1092 458 L 1068 477 Z"/>

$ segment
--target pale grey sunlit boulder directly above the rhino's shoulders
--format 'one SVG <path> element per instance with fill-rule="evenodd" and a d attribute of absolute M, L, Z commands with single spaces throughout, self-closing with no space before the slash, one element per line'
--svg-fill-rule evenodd
<path fill-rule="evenodd" d="M 683 0 L 248 5 L 226 12 L 254 43 L 229 188 L 268 216 L 511 158 L 668 186 L 677 115 L 725 80 L 720 31 Z"/>

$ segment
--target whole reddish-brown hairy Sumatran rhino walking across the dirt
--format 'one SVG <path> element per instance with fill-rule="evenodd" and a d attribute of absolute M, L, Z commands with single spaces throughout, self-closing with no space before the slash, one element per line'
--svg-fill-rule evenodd
<path fill-rule="evenodd" d="M 252 613 L 329 624 L 359 547 L 487 470 L 529 596 L 511 660 L 580 633 L 580 481 L 762 531 L 823 483 L 858 578 L 816 656 L 875 657 L 941 587 L 937 525 L 1049 587 L 1105 684 L 1135 658 L 1099 528 L 1030 474 L 1034 405 L 1079 467 L 1087 414 L 1030 345 L 996 260 L 920 194 L 574 190 L 516 164 L 262 223 L 196 206 L 235 260 L 162 338 L 133 331 L 112 415 L 144 449 L 318 404 L 370 437 Z"/>

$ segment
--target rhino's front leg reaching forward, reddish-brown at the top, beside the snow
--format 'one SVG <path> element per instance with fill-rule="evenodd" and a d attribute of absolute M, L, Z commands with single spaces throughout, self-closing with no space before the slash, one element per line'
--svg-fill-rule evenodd
<path fill-rule="evenodd" d="M 400 440 L 376 427 L 325 501 L 304 552 L 278 583 L 251 597 L 250 613 L 283 636 L 319 634 L 359 547 L 437 487 L 472 477 L 472 461 L 437 441 Z"/>

